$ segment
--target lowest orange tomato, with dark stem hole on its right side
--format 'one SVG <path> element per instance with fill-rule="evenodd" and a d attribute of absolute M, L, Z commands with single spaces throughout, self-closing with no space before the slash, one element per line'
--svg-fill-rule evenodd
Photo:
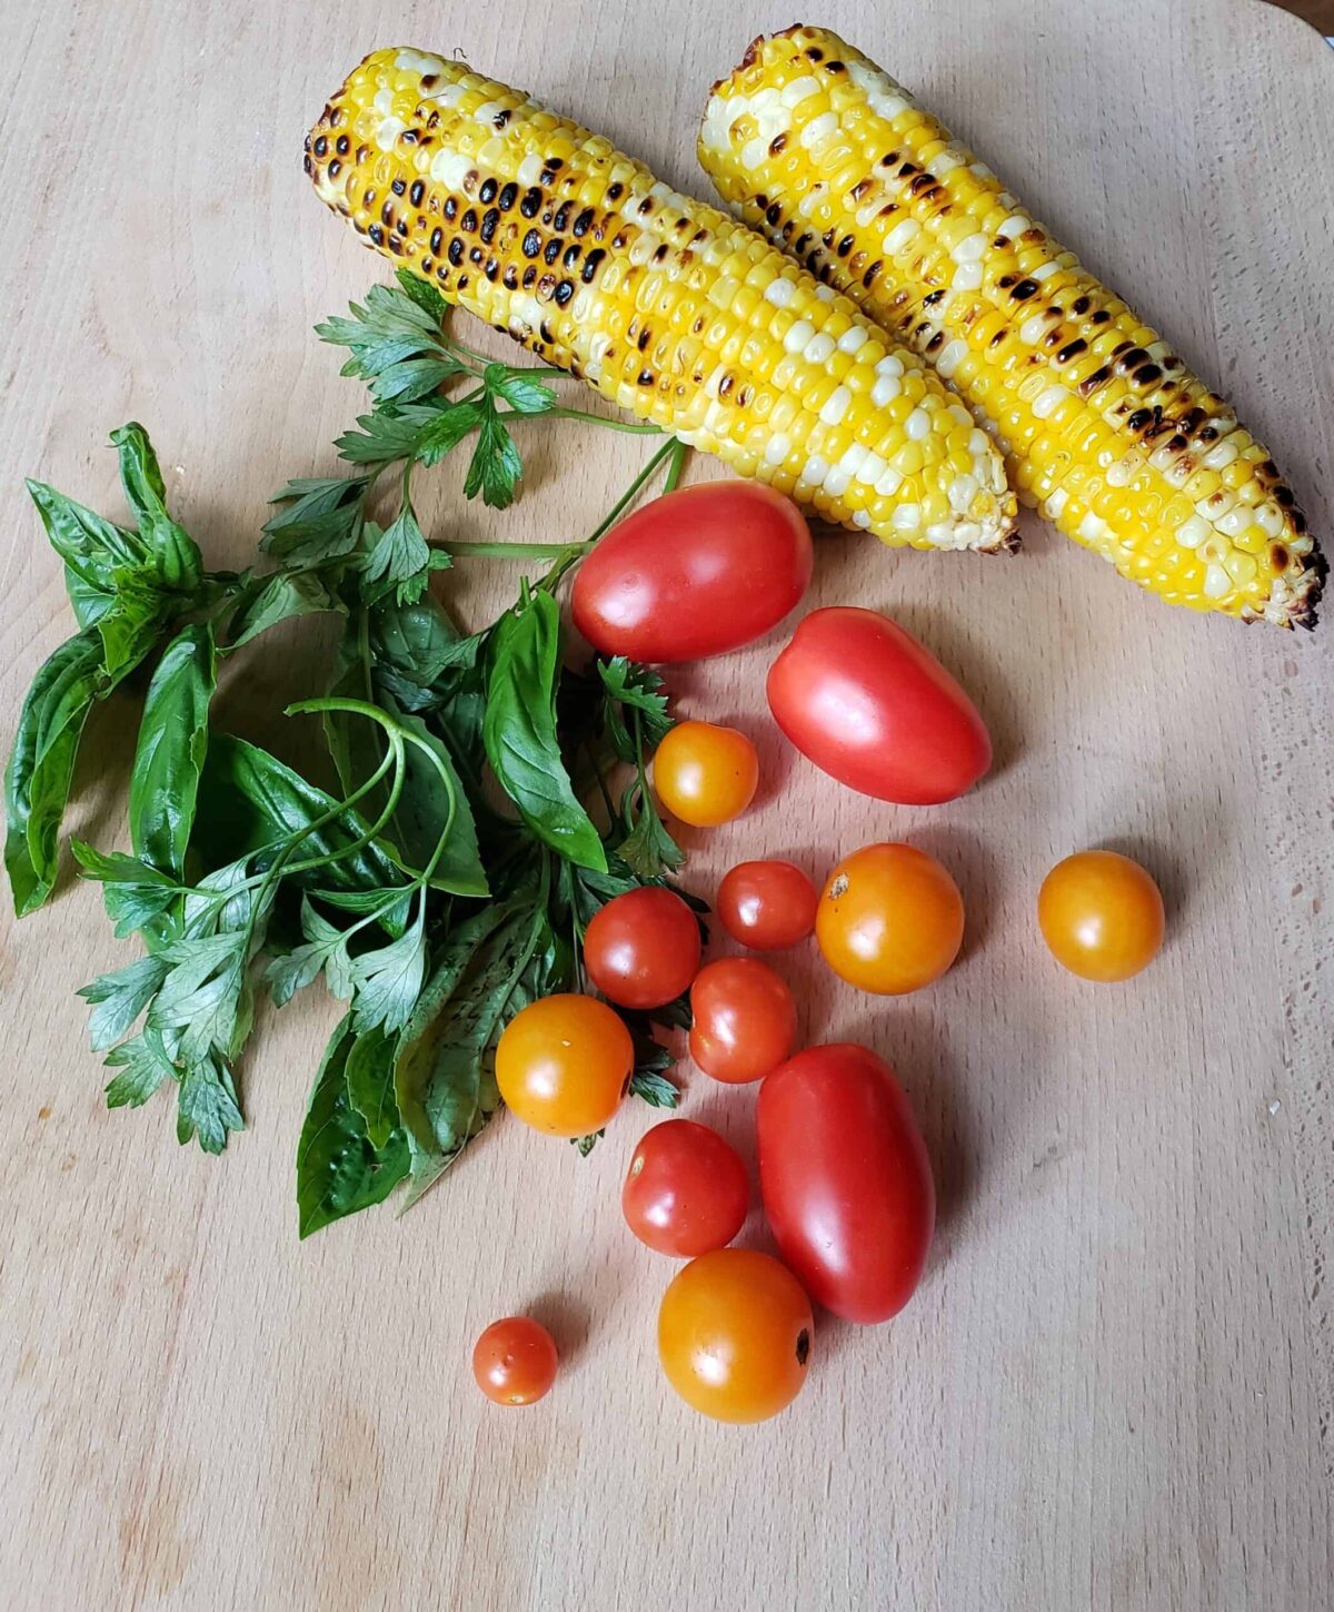
<path fill-rule="evenodd" d="M 715 1422 L 764 1422 L 791 1404 L 806 1381 L 812 1333 L 798 1278 L 749 1248 L 693 1259 L 657 1312 L 667 1381 Z"/>

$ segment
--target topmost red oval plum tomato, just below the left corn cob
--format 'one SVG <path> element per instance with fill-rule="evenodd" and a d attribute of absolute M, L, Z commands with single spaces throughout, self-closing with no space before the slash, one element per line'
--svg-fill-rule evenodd
<path fill-rule="evenodd" d="M 810 582 L 810 529 L 762 482 L 704 482 L 612 527 L 575 575 L 575 627 L 603 654 L 698 661 L 764 637 Z"/>

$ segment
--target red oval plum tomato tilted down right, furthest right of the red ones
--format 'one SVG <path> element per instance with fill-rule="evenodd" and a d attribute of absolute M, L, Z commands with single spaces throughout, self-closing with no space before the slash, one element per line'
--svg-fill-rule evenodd
<path fill-rule="evenodd" d="M 972 700 L 888 616 L 812 611 L 768 671 L 768 706 L 796 748 L 830 777 L 901 806 L 936 806 L 991 766 Z"/>

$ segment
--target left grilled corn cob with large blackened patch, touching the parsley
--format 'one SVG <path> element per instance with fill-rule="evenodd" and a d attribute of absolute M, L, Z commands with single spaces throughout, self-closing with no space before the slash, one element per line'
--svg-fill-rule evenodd
<path fill-rule="evenodd" d="M 1012 542 L 1000 456 L 844 297 L 607 140 L 377 50 L 306 140 L 321 198 L 603 397 L 886 543 Z"/>

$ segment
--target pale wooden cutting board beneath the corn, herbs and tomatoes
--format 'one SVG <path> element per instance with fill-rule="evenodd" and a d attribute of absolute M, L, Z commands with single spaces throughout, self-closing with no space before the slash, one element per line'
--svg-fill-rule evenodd
<path fill-rule="evenodd" d="M 1274 448 L 1326 538 L 1334 472 L 1334 55 L 1250 0 L 826 0 L 826 21 L 1012 179 Z M 707 193 L 709 82 L 793 6 L 10 0 L 0 18 L 0 729 L 69 632 L 21 479 L 116 513 L 106 434 L 153 432 L 174 509 L 242 564 L 264 498 L 334 463 L 359 405 L 311 335 L 383 264 L 317 205 L 301 137 L 367 50 L 478 68 Z M 604 440 L 611 438 L 611 440 Z M 422 477 L 435 530 L 583 532 L 643 447 L 540 429 L 522 503 Z M 548 448 L 549 445 L 549 448 Z M 691 476 L 717 476 L 696 458 Z M 941 1188 L 917 1301 L 825 1323 L 806 1393 L 702 1422 L 654 1354 L 667 1262 L 620 1224 L 648 1111 L 580 1162 L 498 1122 L 403 1220 L 296 1241 L 295 1141 L 332 1020 L 263 1016 L 250 1130 L 222 1161 L 169 1106 L 108 1114 L 72 991 L 126 959 L 95 890 L 0 953 L 0 1602 L 5 1607 L 1324 1609 L 1334 1541 L 1334 622 L 1315 638 L 1168 611 L 1025 517 L 1013 559 L 820 545 L 810 604 L 920 634 L 997 766 L 938 811 L 883 808 L 778 740 L 775 643 L 675 679 L 762 753 L 743 856 L 912 838 L 968 906 L 960 964 L 880 1003 L 781 967 L 807 1041 L 899 1069 Z M 446 580 L 480 621 L 516 567 Z M 296 624 L 232 664 L 222 721 L 308 761 L 277 713 L 321 675 Z M 237 658 L 238 661 L 242 658 Z M 134 706 L 97 719 L 68 829 L 121 835 Z M 1170 943 L 1116 988 L 1063 975 L 1034 899 L 1065 853 L 1157 872 Z M 685 1112 L 752 1154 L 752 1093 L 686 1070 Z M 762 1241 L 759 1217 L 748 1235 Z M 501 1414 L 467 1354 L 501 1314 L 564 1351 Z"/>

